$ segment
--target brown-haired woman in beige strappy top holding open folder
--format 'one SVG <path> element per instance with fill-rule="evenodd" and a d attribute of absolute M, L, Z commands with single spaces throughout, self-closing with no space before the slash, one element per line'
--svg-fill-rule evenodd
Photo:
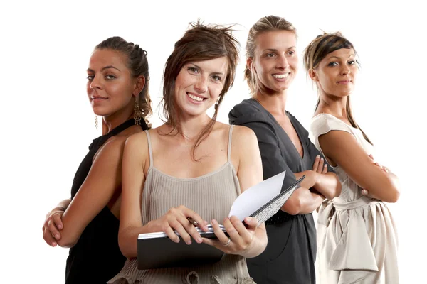
<path fill-rule="evenodd" d="M 243 190 L 263 180 L 258 144 L 251 129 L 216 121 L 233 84 L 236 45 L 230 28 L 200 23 L 175 43 L 164 68 L 165 124 L 126 142 L 119 244 L 129 259 L 110 283 L 253 283 L 246 258 L 265 249 L 265 227 L 253 218 L 246 227 L 228 212 Z M 202 239 L 188 218 L 204 231 L 209 221 L 218 239 Z M 174 230 L 186 244 L 204 242 L 226 254 L 213 264 L 138 270 L 138 235 L 163 231 L 179 242 Z"/>

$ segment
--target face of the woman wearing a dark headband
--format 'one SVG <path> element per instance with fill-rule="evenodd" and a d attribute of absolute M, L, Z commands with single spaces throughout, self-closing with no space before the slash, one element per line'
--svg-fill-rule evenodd
<path fill-rule="evenodd" d="M 320 94 L 347 97 L 353 92 L 357 72 L 354 50 L 340 48 L 328 53 L 309 75 L 317 82 Z"/>

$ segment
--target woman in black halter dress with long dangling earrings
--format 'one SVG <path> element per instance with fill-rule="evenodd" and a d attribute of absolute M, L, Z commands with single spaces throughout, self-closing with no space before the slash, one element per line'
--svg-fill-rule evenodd
<path fill-rule="evenodd" d="M 102 136 L 75 173 L 71 198 L 46 216 L 43 239 L 69 247 L 65 283 L 106 283 L 125 263 L 117 241 L 126 138 L 149 129 L 147 52 L 119 37 L 96 46 L 88 67 L 88 99 L 102 116 Z"/>

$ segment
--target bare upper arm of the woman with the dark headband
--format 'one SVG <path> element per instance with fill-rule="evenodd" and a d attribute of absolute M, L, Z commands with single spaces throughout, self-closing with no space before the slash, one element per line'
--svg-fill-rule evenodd
<path fill-rule="evenodd" d="M 399 199 L 396 175 L 375 165 L 351 133 L 329 131 L 319 136 L 319 143 L 325 155 L 343 168 L 359 187 L 367 188 L 371 195 L 385 202 Z"/>

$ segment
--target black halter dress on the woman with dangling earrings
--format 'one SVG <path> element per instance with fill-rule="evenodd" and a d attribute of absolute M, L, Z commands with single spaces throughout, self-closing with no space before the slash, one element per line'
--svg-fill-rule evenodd
<path fill-rule="evenodd" d="M 134 119 L 125 121 L 109 133 L 93 140 L 89 153 L 78 167 L 71 187 L 71 200 L 75 197 L 80 186 L 88 176 L 95 153 L 108 140 L 123 130 L 135 125 Z M 142 130 L 148 129 L 141 120 Z M 86 226 L 77 244 L 70 249 L 65 268 L 66 284 L 107 283 L 125 264 L 118 244 L 119 220 L 106 206 Z"/>

